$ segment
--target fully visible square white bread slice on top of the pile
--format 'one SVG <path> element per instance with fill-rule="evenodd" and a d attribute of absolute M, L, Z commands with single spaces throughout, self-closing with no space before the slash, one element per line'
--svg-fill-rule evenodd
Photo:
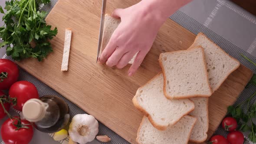
<path fill-rule="evenodd" d="M 169 98 L 210 97 L 203 48 L 179 50 L 160 54 L 164 74 L 164 95 Z"/>

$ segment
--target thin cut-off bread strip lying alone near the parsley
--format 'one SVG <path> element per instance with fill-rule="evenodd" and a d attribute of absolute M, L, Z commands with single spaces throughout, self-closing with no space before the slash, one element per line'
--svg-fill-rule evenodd
<path fill-rule="evenodd" d="M 66 31 L 65 31 L 65 41 L 64 41 L 61 71 L 67 71 L 68 70 L 71 37 L 72 37 L 72 30 L 70 28 L 67 28 Z"/>

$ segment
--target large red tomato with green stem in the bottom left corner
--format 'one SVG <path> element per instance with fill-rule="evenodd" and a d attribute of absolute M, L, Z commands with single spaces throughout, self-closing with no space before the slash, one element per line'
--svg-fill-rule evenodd
<path fill-rule="evenodd" d="M 15 117 L 19 119 L 19 117 Z M 33 127 L 29 121 L 21 120 L 21 125 L 27 128 L 19 128 L 13 124 L 18 124 L 14 118 L 8 118 L 1 127 L 1 136 L 5 144 L 28 144 L 33 137 Z M 18 124 L 19 125 L 19 124 Z M 21 126 L 20 125 L 20 126 Z M 19 128 L 18 130 L 16 130 Z"/>

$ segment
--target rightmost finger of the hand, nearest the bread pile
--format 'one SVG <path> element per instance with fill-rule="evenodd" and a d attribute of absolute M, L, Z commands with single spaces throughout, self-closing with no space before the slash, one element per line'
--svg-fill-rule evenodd
<path fill-rule="evenodd" d="M 139 51 L 133 64 L 131 65 L 130 69 L 128 70 L 128 76 L 132 76 L 135 74 L 136 70 L 141 65 L 143 59 L 145 58 L 147 51 Z"/>

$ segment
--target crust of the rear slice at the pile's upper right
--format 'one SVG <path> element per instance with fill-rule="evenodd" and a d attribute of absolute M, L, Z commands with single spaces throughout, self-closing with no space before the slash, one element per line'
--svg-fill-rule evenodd
<path fill-rule="evenodd" d="M 197 37 L 195 38 L 194 43 L 193 43 L 188 49 L 193 49 L 193 48 L 195 47 L 195 46 L 194 46 L 194 45 L 195 45 L 195 42 L 197 41 L 197 39 L 199 39 L 199 36 L 205 36 L 208 40 L 210 40 L 205 34 L 203 34 L 203 33 L 200 32 L 200 33 L 197 34 Z M 229 56 L 231 59 L 233 59 L 234 61 L 238 62 L 238 65 L 237 65 L 236 67 L 234 67 L 234 69 L 231 69 L 231 70 L 230 70 L 230 72 L 226 75 L 226 77 L 225 77 L 224 79 L 222 79 L 222 82 L 220 82 L 220 84 L 217 85 L 215 89 L 212 89 L 212 91 L 215 92 L 218 88 L 220 88 L 220 85 L 223 84 L 223 82 L 227 79 L 227 77 L 228 77 L 232 72 L 234 72 L 236 69 L 239 68 L 240 62 L 239 62 L 237 59 L 235 59 L 235 58 L 233 58 L 232 56 L 230 56 L 229 54 L 227 54 L 223 49 L 220 48 L 220 46 L 218 46 L 218 45 L 217 45 L 216 43 L 214 43 L 212 40 L 210 40 L 210 42 L 212 42 L 212 43 L 217 47 L 217 49 L 220 49 L 226 56 Z M 208 72 L 207 72 L 207 73 L 208 73 Z"/>

